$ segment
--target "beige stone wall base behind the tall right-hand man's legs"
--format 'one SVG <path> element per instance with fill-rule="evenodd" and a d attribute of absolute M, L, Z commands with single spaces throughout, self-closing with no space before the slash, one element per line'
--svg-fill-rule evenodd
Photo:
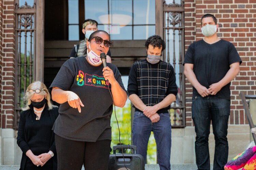
<path fill-rule="evenodd" d="M 249 125 L 228 126 L 228 161 L 247 149 L 250 143 Z M 195 128 L 187 126 L 184 129 L 172 129 L 171 164 L 195 164 Z M 214 159 L 214 135 L 212 126 L 209 135 L 210 162 Z"/>

